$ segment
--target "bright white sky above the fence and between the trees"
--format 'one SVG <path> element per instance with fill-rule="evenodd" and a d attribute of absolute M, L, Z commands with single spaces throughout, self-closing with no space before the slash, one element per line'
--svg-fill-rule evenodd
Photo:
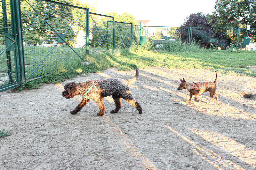
<path fill-rule="evenodd" d="M 203 12 L 211 14 L 216 0 L 80 0 L 86 4 L 98 1 L 97 13 L 115 11 L 128 12 L 136 20 L 150 20 L 152 26 L 180 26 L 191 14 Z"/>

